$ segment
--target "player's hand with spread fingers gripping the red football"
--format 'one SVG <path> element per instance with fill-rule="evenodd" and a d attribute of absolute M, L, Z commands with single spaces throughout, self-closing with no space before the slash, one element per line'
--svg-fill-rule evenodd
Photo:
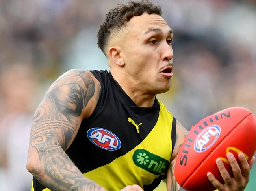
<path fill-rule="evenodd" d="M 255 157 L 252 157 L 249 164 L 243 153 L 238 154 L 238 158 L 241 162 L 241 168 L 239 167 L 234 155 L 227 153 L 227 159 L 232 167 L 234 178 L 231 178 L 228 171 L 226 170 L 221 159 L 216 160 L 216 164 L 219 168 L 221 176 L 225 181 L 225 184 L 221 184 L 212 173 L 207 173 L 208 179 L 219 191 L 243 191 L 249 182 L 250 169 L 254 163 Z"/>

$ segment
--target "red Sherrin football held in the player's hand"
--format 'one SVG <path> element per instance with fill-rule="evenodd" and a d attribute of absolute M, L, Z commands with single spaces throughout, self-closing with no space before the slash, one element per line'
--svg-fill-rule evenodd
<path fill-rule="evenodd" d="M 191 128 L 177 156 L 174 175 L 187 191 L 213 191 L 216 188 L 207 178 L 211 172 L 224 183 L 215 163 L 221 158 L 233 176 L 226 153 L 245 154 L 250 161 L 256 150 L 256 118 L 243 107 L 231 107 L 210 115 Z M 240 162 L 239 162 L 240 163 Z"/>

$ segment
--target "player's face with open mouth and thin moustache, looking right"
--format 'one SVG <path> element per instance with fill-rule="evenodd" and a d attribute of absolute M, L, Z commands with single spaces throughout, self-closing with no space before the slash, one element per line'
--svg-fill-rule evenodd
<path fill-rule="evenodd" d="M 127 23 L 123 54 L 127 73 L 148 93 L 163 93 L 171 85 L 173 33 L 156 14 L 143 13 Z"/>

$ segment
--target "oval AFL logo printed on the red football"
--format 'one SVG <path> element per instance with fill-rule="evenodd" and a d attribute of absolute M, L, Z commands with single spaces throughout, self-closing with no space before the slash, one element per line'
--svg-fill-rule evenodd
<path fill-rule="evenodd" d="M 213 125 L 204 129 L 195 141 L 195 151 L 203 152 L 209 149 L 219 138 L 221 128 L 217 125 Z"/>

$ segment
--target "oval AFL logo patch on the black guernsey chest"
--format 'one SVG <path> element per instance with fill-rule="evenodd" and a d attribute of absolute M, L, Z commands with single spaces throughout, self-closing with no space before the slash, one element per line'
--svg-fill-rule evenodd
<path fill-rule="evenodd" d="M 119 138 L 107 129 L 99 127 L 89 129 L 87 131 L 87 137 L 97 147 L 108 151 L 114 151 L 121 148 L 121 141 Z"/>

